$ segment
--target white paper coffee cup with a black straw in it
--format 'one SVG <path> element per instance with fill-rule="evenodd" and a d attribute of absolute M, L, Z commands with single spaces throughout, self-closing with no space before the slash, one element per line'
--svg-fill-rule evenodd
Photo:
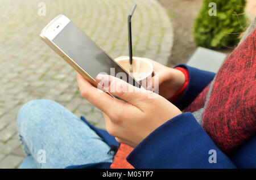
<path fill-rule="evenodd" d="M 130 71 L 129 57 L 115 59 L 119 66 L 122 66 L 127 72 Z M 133 72 L 129 72 L 137 82 L 142 83 L 144 80 L 152 78 L 153 66 L 146 59 L 133 57 Z"/>

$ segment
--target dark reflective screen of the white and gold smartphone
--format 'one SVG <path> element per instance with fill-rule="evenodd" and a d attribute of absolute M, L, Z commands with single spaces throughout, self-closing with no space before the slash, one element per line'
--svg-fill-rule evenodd
<path fill-rule="evenodd" d="M 123 80 L 141 87 L 72 22 L 69 22 L 52 41 L 93 79 L 102 72 L 114 76 L 117 76 L 118 72 L 123 72 L 126 75 L 126 79 L 122 77 Z"/>

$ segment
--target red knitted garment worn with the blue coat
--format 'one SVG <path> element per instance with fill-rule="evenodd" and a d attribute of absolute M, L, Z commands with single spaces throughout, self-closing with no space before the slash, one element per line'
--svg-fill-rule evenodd
<path fill-rule="evenodd" d="M 205 106 L 203 128 L 218 148 L 228 154 L 256 133 L 256 29 L 229 55 L 210 84 L 185 109 Z M 110 168 L 133 168 L 126 157 L 133 148 L 121 144 Z"/>

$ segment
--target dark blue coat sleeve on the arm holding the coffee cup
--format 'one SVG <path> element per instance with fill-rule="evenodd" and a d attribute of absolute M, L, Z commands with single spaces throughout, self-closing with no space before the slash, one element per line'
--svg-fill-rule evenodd
<path fill-rule="evenodd" d="M 183 95 L 173 102 L 177 108 L 183 110 L 196 98 L 197 95 L 213 80 L 215 73 L 199 70 L 195 67 L 190 67 L 185 64 L 180 64 L 175 67 L 187 68 L 189 72 L 188 86 L 185 89 Z"/>

